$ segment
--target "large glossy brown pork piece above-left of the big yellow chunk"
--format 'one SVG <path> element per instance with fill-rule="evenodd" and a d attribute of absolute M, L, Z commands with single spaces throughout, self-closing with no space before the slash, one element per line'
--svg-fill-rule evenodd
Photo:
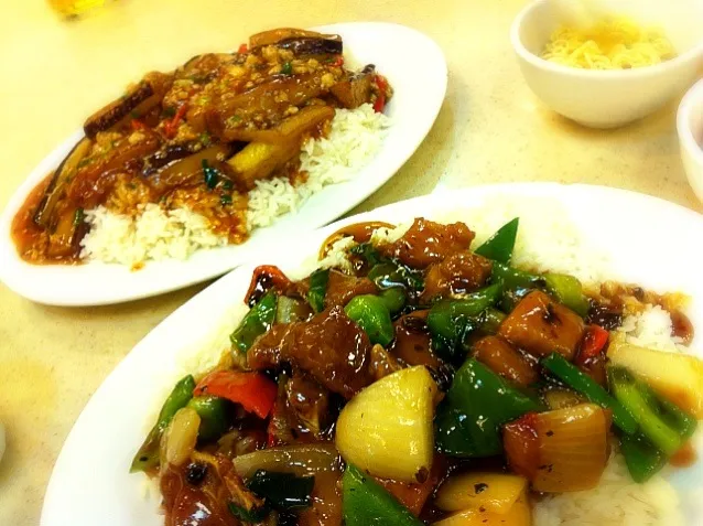
<path fill-rule="evenodd" d="M 333 307 L 310 321 L 274 325 L 248 352 L 252 369 L 270 369 L 288 363 L 322 386 L 352 398 L 369 385 L 371 343 L 340 307 Z"/>

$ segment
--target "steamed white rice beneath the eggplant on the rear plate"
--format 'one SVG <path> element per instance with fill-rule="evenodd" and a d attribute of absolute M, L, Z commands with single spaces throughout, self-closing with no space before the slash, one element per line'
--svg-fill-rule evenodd
<path fill-rule="evenodd" d="M 389 126 L 389 118 L 368 104 L 337 109 L 328 137 L 303 144 L 304 182 L 293 185 L 286 178 L 257 181 L 249 192 L 248 229 L 269 226 L 324 186 L 352 179 L 378 153 Z M 150 259 L 186 259 L 199 248 L 228 244 L 225 236 L 210 232 L 205 217 L 185 207 L 166 211 L 148 204 L 129 217 L 98 206 L 86 211 L 85 221 L 90 232 L 80 243 L 80 257 L 104 262 L 137 267 Z"/>

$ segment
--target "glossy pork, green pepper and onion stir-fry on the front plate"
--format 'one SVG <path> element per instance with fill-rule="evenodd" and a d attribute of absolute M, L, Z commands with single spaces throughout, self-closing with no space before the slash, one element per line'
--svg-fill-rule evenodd
<path fill-rule="evenodd" d="M 539 525 L 617 465 L 638 486 L 693 462 L 681 294 L 518 268 L 518 224 L 475 249 L 464 223 L 355 224 L 305 279 L 258 267 L 231 348 L 134 455 L 165 524 Z M 628 340 L 646 312 L 682 351 Z"/>

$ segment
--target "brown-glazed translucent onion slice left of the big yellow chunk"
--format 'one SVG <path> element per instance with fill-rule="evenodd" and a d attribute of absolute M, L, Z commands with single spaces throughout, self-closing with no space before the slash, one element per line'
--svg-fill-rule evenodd
<path fill-rule="evenodd" d="M 338 469 L 339 453 L 332 443 L 284 446 L 262 449 L 237 457 L 232 462 L 242 479 L 248 479 L 257 470 L 292 473 L 306 476 L 323 471 Z"/>

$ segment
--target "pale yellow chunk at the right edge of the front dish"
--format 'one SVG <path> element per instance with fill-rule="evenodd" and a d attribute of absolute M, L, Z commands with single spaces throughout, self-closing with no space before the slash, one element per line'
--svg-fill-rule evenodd
<path fill-rule="evenodd" d="M 613 365 L 627 367 L 659 395 L 696 419 L 703 419 L 703 361 L 689 354 L 667 353 L 613 342 Z"/>

